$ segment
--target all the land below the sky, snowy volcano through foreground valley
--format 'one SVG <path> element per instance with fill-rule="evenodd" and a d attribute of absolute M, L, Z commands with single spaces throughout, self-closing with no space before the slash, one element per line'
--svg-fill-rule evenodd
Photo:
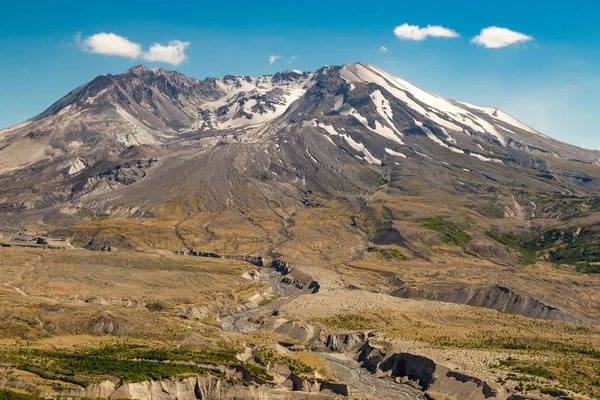
<path fill-rule="evenodd" d="M 98 76 L 0 130 L 0 385 L 598 399 L 599 192 L 600 152 L 374 65 Z"/>

